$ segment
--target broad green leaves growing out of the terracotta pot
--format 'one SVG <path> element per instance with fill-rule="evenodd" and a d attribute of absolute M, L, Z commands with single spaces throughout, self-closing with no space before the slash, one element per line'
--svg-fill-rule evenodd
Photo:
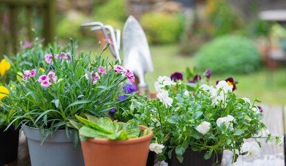
<path fill-rule="evenodd" d="M 70 120 L 73 127 L 79 130 L 81 140 L 86 138 L 105 138 L 108 140 L 127 140 L 130 138 L 138 138 L 141 136 L 138 122 L 128 120 L 128 122 L 111 121 L 110 118 L 96 118 L 88 114 L 75 116 L 80 124 L 74 120 Z M 146 136 L 151 131 L 148 128 L 142 136 Z"/>

